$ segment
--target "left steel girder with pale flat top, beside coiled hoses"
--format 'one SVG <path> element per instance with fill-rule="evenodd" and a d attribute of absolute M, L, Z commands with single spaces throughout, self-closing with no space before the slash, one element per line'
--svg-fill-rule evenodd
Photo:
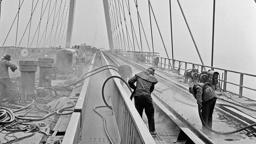
<path fill-rule="evenodd" d="M 91 65 L 89 66 L 88 72 L 91 72 L 94 67 L 94 60 L 95 60 L 96 54 L 92 56 Z M 89 85 L 90 77 L 85 79 L 82 90 L 80 92 L 78 102 L 75 106 L 74 112 L 71 116 L 71 119 L 69 121 L 69 126 L 66 130 L 66 133 L 64 135 L 62 144 L 78 144 L 79 137 L 81 135 L 81 128 L 82 128 L 82 122 L 85 115 L 85 109 L 86 109 L 86 103 L 87 103 L 87 97 L 90 85 Z"/>

